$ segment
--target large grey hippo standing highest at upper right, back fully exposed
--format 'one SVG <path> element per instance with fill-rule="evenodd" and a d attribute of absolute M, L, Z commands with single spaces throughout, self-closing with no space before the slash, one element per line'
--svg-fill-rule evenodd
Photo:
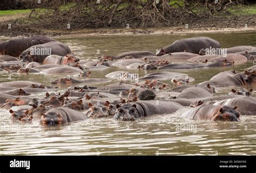
<path fill-rule="evenodd" d="M 201 48 L 219 48 L 220 43 L 209 37 L 192 37 L 174 41 L 171 45 L 161 48 L 157 56 L 173 52 L 190 52 L 198 54 Z"/>

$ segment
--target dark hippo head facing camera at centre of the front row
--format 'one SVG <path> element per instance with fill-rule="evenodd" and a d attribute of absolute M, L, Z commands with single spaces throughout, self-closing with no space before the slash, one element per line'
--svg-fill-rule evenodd
<path fill-rule="evenodd" d="M 133 121 L 139 118 L 139 113 L 136 110 L 136 104 L 125 103 L 123 105 L 117 105 L 117 110 L 114 113 L 114 119 L 123 121 Z"/>

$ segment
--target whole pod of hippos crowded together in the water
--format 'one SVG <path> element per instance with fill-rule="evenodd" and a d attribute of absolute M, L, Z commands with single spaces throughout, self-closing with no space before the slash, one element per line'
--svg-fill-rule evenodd
<path fill-rule="evenodd" d="M 2 71 L 56 77 L 50 84 L 0 83 L 0 106 L 10 112 L 12 122 L 27 124 L 39 119 L 40 126 L 52 127 L 88 118 L 131 121 L 172 114 L 184 107 L 189 110 L 181 117 L 198 121 L 241 121 L 241 116 L 256 115 L 255 66 L 244 71 L 222 71 L 199 84 L 187 74 L 171 71 L 255 62 L 254 46 L 225 50 L 217 40 L 193 37 L 174 41 L 160 48 L 156 55 L 130 51 L 84 61 L 64 43 L 36 35 L 1 42 L 0 54 Z M 122 68 L 123 71 L 113 71 L 104 78 L 93 77 L 93 71 L 109 68 Z M 157 71 L 138 76 L 131 69 Z M 63 74 L 65 76 L 59 76 Z M 225 87 L 230 88 L 228 95 L 216 95 Z M 35 93 L 44 96 L 34 97 Z"/>

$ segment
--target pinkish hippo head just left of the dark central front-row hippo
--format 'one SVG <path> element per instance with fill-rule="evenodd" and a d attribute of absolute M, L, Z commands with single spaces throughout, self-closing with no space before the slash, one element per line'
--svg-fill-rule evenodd
<path fill-rule="evenodd" d="M 87 117 L 99 118 L 99 117 L 109 116 L 109 111 L 107 110 L 107 107 L 105 105 L 102 105 L 102 104 L 92 105 L 92 103 L 89 103 L 88 105 L 90 109 L 87 110 L 86 112 Z"/>

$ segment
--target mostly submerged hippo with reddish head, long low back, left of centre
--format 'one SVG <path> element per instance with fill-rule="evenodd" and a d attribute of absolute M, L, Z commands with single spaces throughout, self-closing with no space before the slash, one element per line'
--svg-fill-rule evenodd
<path fill-rule="evenodd" d="M 73 77 L 61 77 L 58 80 L 52 81 L 51 84 L 75 84 L 75 83 L 93 83 L 93 82 L 111 82 L 111 80 L 105 78 L 85 78 L 83 80 L 77 80 Z"/>

